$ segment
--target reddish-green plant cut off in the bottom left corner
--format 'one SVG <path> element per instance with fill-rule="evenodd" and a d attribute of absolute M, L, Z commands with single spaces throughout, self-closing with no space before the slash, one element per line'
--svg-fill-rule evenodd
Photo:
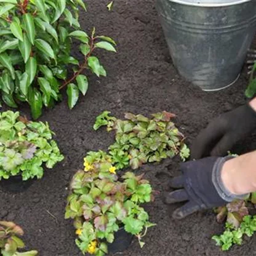
<path fill-rule="evenodd" d="M 30 252 L 17 252 L 17 249 L 25 247 L 24 242 L 18 236 L 23 236 L 23 230 L 13 222 L 0 222 L 0 255 L 1 256 L 35 256 L 36 250 Z"/>

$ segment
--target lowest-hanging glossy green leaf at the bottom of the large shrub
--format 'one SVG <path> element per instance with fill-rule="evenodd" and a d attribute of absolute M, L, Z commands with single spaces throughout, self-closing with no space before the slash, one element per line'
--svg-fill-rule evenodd
<path fill-rule="evenodd" d="M 28 91 L 28 102 L 30 103 L 33 119 L 38 119 L 42 114 L 42 95 L 36 88 Z"/>

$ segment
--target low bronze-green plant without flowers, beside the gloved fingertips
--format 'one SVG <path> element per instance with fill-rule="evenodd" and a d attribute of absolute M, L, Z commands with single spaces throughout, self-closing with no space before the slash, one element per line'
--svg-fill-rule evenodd
<path fill-rule="evenodd" d="M 160 162 L 177 154 L 183 161 L 190 156 L 184 135 L 171 121 L 174 114 L 163 111 L 152 114 L 150 119 L 142 114 L 126 113 L 126 120 L 109 114 L 109 111 L 100 114 L 94 129 L 107 126 L 108 131 L 115 130 L 116 142 L 109 147 L 109 153 L 117 169 L 128 166 L 137 169 L 146 162 Z"/>

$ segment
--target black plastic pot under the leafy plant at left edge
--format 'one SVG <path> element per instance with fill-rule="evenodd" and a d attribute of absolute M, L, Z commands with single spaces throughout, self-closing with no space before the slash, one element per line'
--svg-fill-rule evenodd
<path fill-rule="evenodd" d="M 5 180 L 0 180 L 0 190 L 9 193 L 22 193 L 26 191 L 34 182 L 34 179 L 22 180 L 22 175 L 12 176 Z"/>

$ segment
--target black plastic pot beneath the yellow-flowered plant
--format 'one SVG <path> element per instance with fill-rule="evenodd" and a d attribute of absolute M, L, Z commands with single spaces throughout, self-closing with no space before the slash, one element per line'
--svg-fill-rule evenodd
<path fill-rule="evenodd" d="M 123 252 L 126 250 L 132 242 L 132 234 L 127 233 L 124 227 L 120 228 L 114 233 L 114 242 L 108 243 L 108 253 L 115 254 L 116 252 Z"/>

